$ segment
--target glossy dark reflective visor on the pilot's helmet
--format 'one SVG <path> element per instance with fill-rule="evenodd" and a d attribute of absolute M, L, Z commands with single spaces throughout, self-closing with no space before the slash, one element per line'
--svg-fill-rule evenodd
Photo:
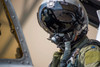
<path fill-rule="evenodd" d="M 67 33 L 74 30 L 74 14 L 66 10 L 44 9 L 42 21 L 47 29 L 53 33 Z"/>

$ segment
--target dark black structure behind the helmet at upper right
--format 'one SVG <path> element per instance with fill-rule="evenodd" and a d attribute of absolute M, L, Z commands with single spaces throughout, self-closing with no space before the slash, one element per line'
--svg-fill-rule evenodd
<path fill-rule="evenodd" d="M 100 9 L 100 1 L 99 0 L 80 0 L 80 1 L 84 5 L 88 13 L 90 24 L 98 28 L 99 20 L 96 11 Z"/>

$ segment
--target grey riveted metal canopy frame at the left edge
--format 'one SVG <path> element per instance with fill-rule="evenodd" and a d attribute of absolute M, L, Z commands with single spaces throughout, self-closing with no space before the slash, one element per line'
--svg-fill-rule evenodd
<path fill-rule="evenodd" d="M 7 19 L 14 27 L 14 34 L 22 51 L 22 57 L 16 59 L 0 59 L 0 67 L 33 67 L 27 44 L 10 0 L 0 0 L 4 6 Z M 1 44 L 0 44 L 1 45 Z"/>

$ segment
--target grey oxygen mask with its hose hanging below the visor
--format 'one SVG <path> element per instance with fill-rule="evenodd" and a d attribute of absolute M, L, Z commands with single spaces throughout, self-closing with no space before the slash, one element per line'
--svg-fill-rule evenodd
<path fill-rule="evenodd" d="M 59 44 L 62 38 L 63 38 L 63 44 L 64 44 L 65 49 L 64 49 L 64 54 L 60 61 L 60 67 L 66 67 L 66 64 L 67 64 L 66 62 L 69 60 L 71 56 L 71 42 L 74 40 L 75 34 L 72 34 L 72 37 L 71 35 L 68 35 L 67 36 L 68 39 L 66 39 L 64 34 L 55 34 L 50 38 L 50 40 L 54 42 L 55 44 Z"/>

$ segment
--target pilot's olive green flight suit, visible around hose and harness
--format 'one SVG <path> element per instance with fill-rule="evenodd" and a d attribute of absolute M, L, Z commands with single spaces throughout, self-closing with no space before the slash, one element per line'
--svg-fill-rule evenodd
<path fill-rule="evenodd" d="M 71 63 L 66 67 L 100 67 L 100 43 L 96 40 L 89 40 L 86 36 L 75 44 L 72 49 L 80 48 L 75 65 Z M 49 67 L 60 67 L 60 60 L 63 52 L 55 52 Z"/>

